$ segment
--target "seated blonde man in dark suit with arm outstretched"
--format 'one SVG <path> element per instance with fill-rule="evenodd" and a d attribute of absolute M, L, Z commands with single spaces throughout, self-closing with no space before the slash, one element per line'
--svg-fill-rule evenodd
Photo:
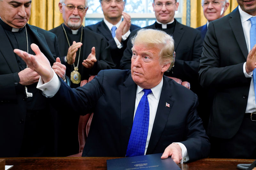
<path fill-rule="evenodd" d="M 49 100 L 55 106 L 60 106 L 62 99 L 66 107 L 59 109 L 94 113 L 82 156 L 164 152 L 162 159 L 172 156 L 176 163 L 207 157 L 210 144 L 196 113 L 196 94 L 163 76 L 174 63 L 172 37 L 163 31 L 142 29 L 132 44 L 131 70 L 102 70 L 76 89 L 57 78 L 35 44 L 36 55 L 18 49 L 15 53 L 37 70 L 41 76 L 37 87 L 52 97 Z M 139 121 L 140 116 L 145 120 Z M 140 133 L 134 133 L 136 128 Z"/>

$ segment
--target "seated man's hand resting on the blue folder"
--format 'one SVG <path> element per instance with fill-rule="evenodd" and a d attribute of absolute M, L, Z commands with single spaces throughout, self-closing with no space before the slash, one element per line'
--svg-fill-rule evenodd
<path fill-rule="evenodd" d="M 180 163 L 180 160 L 182 159 L 181 156 L 181 147 L 179 144 L 170 144 L 165 148 L 163 155 L 161 156 L 161 159 L 166 159 L 169 156 L 172 157 L 173 161 L 176 164 Z"/>

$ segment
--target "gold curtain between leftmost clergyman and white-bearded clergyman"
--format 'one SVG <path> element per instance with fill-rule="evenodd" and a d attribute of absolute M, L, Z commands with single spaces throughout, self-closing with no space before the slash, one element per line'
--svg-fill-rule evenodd
<path fill-rule="evenodd" d="M 28 24 L 50 30 L 63 23 L 59 11 L 60 0 L 32 0 Z"/>

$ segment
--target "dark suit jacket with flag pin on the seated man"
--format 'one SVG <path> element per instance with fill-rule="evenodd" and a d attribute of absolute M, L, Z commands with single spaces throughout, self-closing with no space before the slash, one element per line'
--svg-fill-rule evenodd
<path fill-rule="evenodd" d="M 73 113 L 94 113 L 83 156 L 124 157 L 136 89 L 130 70 L 102 70 L 83 87 L 70 89 L 61 83 L 50 100 L 62 99 L 62 106 L 66 106 L 62 109 Z M 165 106 L 166 102 L 170 107 Z M 147 154 L 162 153 L 172 142 L 181 142 L 187 147 L 190 160 L 207 157 L 210 144 L 196 113 L 197 105 L 196 94 L 164 76 Z"/>

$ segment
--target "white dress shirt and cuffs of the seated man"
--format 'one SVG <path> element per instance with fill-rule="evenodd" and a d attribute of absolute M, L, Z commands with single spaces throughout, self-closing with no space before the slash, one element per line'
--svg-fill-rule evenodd
<path fill-rule="evenodd" d="M 156 110 L 157 110 L 158 102 L 160 99 L 161 91 L 163 88 L 163 82 L 164 81 L 162 78 L 161 82 L 158 85 L 151 88 L 152 93 L 148 94 L 149 125 L 148 125 L 148 137 L 147 137 L 144 155 L 146 154 L 147 149 L 148 149 L 148 143 L 149 143 L 149 139 L 150 139 L 151 132 L 153 129 L 154 120 L 156 117 Z M 59 80 L 57 74 L 55 74 L 53 71 L 53 78 L 51 79 L 51 81 L 44 83 L 42 78 L 40 77 L 36 88 L 40 89 L 46 97 L 53 97 L 58 92 L 58 90 L 60 88 L 60 80 Z M 141 88 L 140 86 L 137 86 L 134 116 L 135 116 L 137 107 L 139 105 L 140 99 L 144 94 L 144 92 L 142 90 L 143 90 L 143 88 Z M 133 119 L 134 119 L 134 116 L 133 116 Z M 186 146 L 179 142 L 174 142 L 174 143 L 179 144 L 181 147 L 182 159 L 181 159 L 180 163 L 182 164 L 183 161 L 187 162 L 189 160 L 189 157 L 188 157 L 188 152 L 187 152 Z"/>

